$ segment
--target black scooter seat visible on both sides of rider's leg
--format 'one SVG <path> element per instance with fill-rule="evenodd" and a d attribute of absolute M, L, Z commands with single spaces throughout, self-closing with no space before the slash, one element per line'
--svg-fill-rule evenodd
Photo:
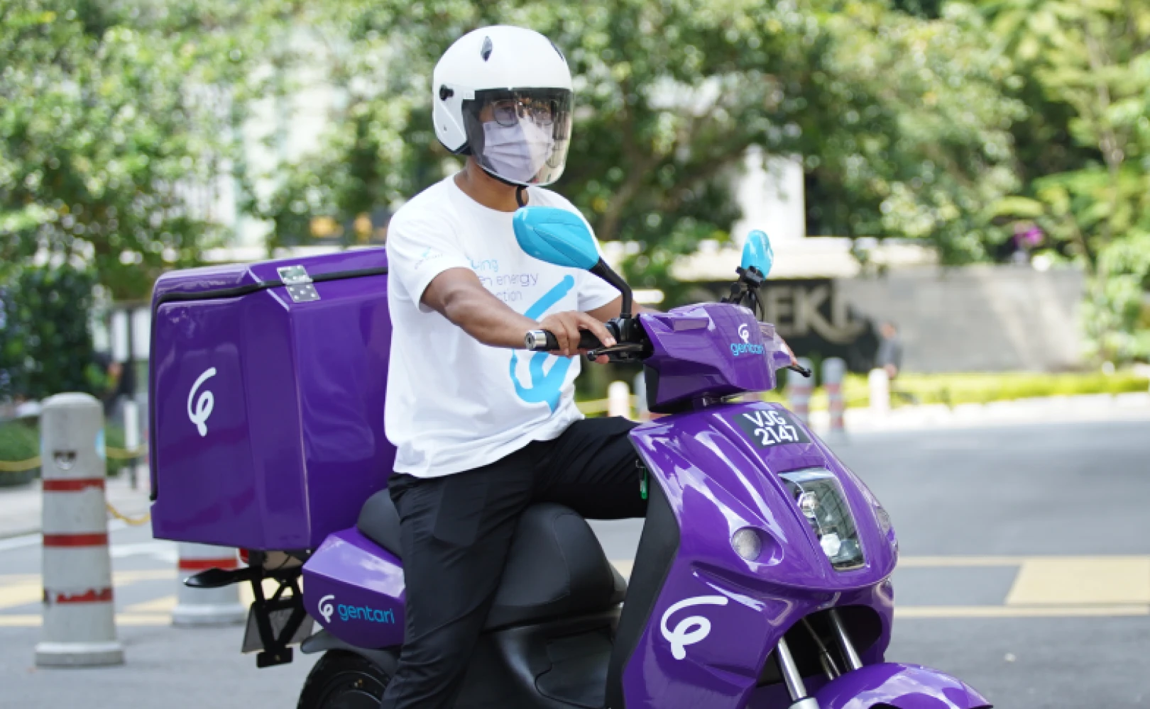
<path fill-rule="evenodd" d="M 365 537 L 400 555 L 399 513 L 382 490 L 360 510 Z M 575 510 L 532 504 L 520 517 L 485 630 L 595 612 L 623 601 L 627 583 Z"/>

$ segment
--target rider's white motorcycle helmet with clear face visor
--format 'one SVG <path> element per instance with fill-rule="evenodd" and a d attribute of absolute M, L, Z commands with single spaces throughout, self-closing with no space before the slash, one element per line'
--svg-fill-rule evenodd
<path fill-rule="evenodd" d="M 512 185 L 550 185 L 564 174 L 572 137 L 572 74 L 550 39 L 507 25 L 451 45 L 431 75 L 435 133 Z"/>

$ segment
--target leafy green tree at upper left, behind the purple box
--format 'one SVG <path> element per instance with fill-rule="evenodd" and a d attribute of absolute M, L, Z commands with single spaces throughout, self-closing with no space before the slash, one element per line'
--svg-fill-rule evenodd
<path fill-rule="evenodd" d="M 262 10 L 260 10 L 262 11 Z M 222 233 L 259 37 L 233 3 L 0 0 L 0 262 L 90 263 L 146 296 Z M 263 16 L 263 15 L 261 15 Z"/>

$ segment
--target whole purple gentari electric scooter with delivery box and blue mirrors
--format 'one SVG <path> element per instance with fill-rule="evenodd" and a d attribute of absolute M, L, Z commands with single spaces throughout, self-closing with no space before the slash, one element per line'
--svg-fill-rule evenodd
<path fill-rule="evenodd" d="M 573 510 L 529 508 L 457 706 L 989 707 L 948 675 L 883 662 L 889 516 L 787 409 L 731 399 L 797 367 L 756 317 L 766 236 L 747 239 L 724 302 L 632 317 L 581 219 L 527 207 L 514 224 L 527 253 L 623 293 L 608 323 L 618 344 L 583 345 L 642 362 L 650 408 L 667 416 L 630 434 L 650 508 L 629 584 Z M 244 646 L 260 666 L 290 662 L 297 642 L 324 653 L 301 709 L 378 706 L 404 639 L 399 519 L 384 487 L 385 257 L 339 259 L 184 271 L 153 298 L 155 533 L 250 549 L 247 567 L 186 583 L 252 584 Z M 524 345 L 542 368 L 554 339 L 538 331 Z"/>

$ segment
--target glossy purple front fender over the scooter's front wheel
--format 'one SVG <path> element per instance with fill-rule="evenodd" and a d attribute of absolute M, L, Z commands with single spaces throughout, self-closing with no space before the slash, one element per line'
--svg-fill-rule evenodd
<path fill-rule="evenodd" d="M 959 679 L 917 664 L 887 662 L 848 672 L 818 694 L 820 709 L 983 709 L 981 694 Z"/>

